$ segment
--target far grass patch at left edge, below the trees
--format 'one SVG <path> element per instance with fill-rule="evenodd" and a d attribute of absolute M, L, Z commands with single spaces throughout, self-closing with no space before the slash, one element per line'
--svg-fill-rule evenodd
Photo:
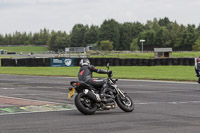
<path fill-rule="evenodd" d="M 8 46 L 8 47 L 0 47 L 0 50 L 7 50 L 8 52 L 23 52 L 23 54 L 28 54 L 29 52 L 33 53 L 45 53 L 48 48 L 44 46 Z"/>

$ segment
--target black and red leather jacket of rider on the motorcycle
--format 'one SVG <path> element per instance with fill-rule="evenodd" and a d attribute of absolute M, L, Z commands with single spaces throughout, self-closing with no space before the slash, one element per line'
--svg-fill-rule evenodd
<path fill-rule="evenodd" d="M 92 79 L 92 72 L 107 74 L 108 71 L 103 69 L 97 69 L 93 65 L 82 66 L 78 73 L 78 79 L 80 81 L 87 82 L 89 79 Z"/>

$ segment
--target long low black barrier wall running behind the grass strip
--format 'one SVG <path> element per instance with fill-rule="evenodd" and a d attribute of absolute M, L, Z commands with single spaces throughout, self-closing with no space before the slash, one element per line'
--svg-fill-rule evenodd
<path fill-rule="evenodd" d="M 79 66 L 80 60 L 81 58 L 73 58 L 73 64 L 70 66 Z M 89 60 L 91 64 L 95 66 L 105 66 L 108 62 L 110 63 L 110 66 L 163 66 L 163 65 L 193 66 L 194 65 L 194 58 L 162 58 L 162 59 L 89 58 Z M 52 58 L 3 58 L 1 59 L 1 66 L 28 66 L 28 67 L 52 66 Z"/>

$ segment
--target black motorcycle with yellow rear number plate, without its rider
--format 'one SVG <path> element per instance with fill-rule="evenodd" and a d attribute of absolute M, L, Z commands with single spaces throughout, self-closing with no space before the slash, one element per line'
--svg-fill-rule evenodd
<path fill-rule="evenodd" d="M 109 63 L 107 64 L 109 70 Z M 104 97 L 101 98 L 100 88 L 86 84 L 83 81 L 71 81 L 73 88 L 69 88 L 68 99 L 77 92 L 74 103 L 76 108 L 84 115 L 92 115 L 96 111 L 110 110 L 119 106 L 124 112 L 132 112 L 134 103 L 127 93 L 121 91 L 116 82 L 118 79 L 112 79 L 112 74 L 108 74 L 106 79 L 107 89 Z M 117 105 L 116 105 L 117 103 Z"/>

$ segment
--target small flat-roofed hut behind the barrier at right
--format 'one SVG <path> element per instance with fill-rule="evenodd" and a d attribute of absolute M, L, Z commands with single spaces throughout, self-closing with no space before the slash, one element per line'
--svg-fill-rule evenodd
<path fill-rule="evenodd" d="M 155 58 L 171 58 L 172 48 L 154 48 Z"/>

